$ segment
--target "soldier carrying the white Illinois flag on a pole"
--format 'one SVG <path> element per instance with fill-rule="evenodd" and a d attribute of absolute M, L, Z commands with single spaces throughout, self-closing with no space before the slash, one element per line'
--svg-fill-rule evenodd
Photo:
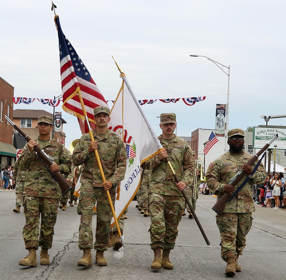
<path fill-rule="evenodd" d="M 187 141 L 174 135 L 176 115 L 160 115 L 162 135 L 158 137 L 163 150 L 142 164 L 143 169 L 152 169 L 149 181 L 148 203 L 151 215 L 150 239 L 154 260 L 151 269 L 173 269 L 170 262 L 170 250 L 174 249 L 178 235 L 178 224 L 184 209 L 181 191 L 190 184 L 194 172 L 194 158 Z M 172 171 L 164 160 L 170 160 L 178 176 L 176 183 Z M 163 254 L 161 250 L 163 249 Z"/>

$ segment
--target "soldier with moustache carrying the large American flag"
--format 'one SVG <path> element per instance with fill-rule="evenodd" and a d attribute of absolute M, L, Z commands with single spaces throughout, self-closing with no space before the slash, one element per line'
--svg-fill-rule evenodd
<path fill-rule="evenodd" d="M 92 266 L 90 251 L 93 247 L 92 210 L 96 201 L 96 241 L 94 243 L 96 263 L 98 266 L 107 265 L 104 251 L 108 249 L 112 211 L 106 191 L 109 190 L 114 205 L 116 185 L 124 179 L 127 158 L 122 139 L 108 129 L 109 114 L 110 109 L 108 107 L 100 106 L 94 109 L 96 130 L 92 133 L 95 141 L 91 141 L 89 133 L 82 135 L 72 155 L 74 165 L 78 166 L 84 163 L 77 207 L 78 214 L 81 215 L 78 246 L 80 250 L 83 250 L 83 256 L 78 262 L 78 266 Z M 102 183 L 98 163 L 94 157 L 94 150 L 96 149 L 106 178 L 105 183 Z"/>

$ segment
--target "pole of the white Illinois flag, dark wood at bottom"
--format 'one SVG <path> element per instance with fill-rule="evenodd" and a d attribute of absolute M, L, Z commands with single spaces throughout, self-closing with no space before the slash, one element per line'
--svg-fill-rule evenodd
<path fill-rule="evenodd" d="M 154 140 L 154 142 L 155 142 L 156 145 L 157 145 L 157 149 L 158 149 L 159 151 L 162 150 L 163 147 L 162 147 L 162 145 L 161 145 L 161 143 L 160 143 L 158 137 L 156 136 L 156 133 L 155 133 L 154 129 L 152 128 L 151 124 L 149 123 L 149 121 L 148 121 L 148 119 L 147 119 L 147 116 L 145 115 L 145 113 L 144 113 L 144 111 L 143 111 L 141 105 L 139 104 L 138 99 L 136 99 L 135 94 L 133 93 L 133 90 L 132 90 L 130 84 L 128 83 L 128 80 L 127 80 L 125 74 L 122 72 L 121 68 L 118 66 L 118 64 L 117 64 L 117 62 L 115 61 L 115 59 L 114 59 L 113 56 L 112 56 L 112 58 L 113 58 L 113 60 L 114 60 L 114 62 L 115 62 L 115 64 L 116 64 L 116 66 L 117 66 L 117 68 L 118 68 L 118 70 L 119 70 L 119 72 L 120 72 L 120 77 L 122 77 L 122 79 L 124 80 L 124 82 L 125 82 L 125 84 L 126 84 L 128 90 L 129 90 L 129 92 L 130 92 L 130 94 L 131 94 L 131 96 L 132 96 L 132 98 L 133 98 L 133 100 L 134 100 L 134 103 L 135 103 L 136 106 L 138 107 L 138 109 L 139 109 L 139 111 L 140 111 L 140 113 L 141 113 L 141 115 L 142 115 L 142 117 L 143 117 L 143 119 L 144 119 L 144 121 L 145 121 L 145 123 L 146 123 L 146 125 L 147 125 L 147 127 L 148 127 L 148 129 L 149 129 L 149 131 L 150 131 L 150 134 L 152 135 L 153 140 Z M 178 177 L 177 177 L 177 175 L 175 174 L 175 171 L 174 171 L 174 169 L 173 169 L 173 167 L 172 167 L 170 161 L 168 160 L 168 158 L 166 158 L 166 162 L 167 162 L 169 168 L 171 169 L 172 174 L 173 174 L 173 176 L 174 176 L 176 182 L 178 183 L 178 182 L 179 182 Z M 141 161 L 141 163 L 142 163 L 142 161 Z M 188 204 L 188 206 L 189 206 L 189 208 L 190 208 L 190 210 L 191 210 L 191 212 L 192 212 L 192 215 L 193 215 L 193 217 L 194 217 L 194 219 L 195 219 L 195 221 L 196 221 L 196 223 L 197 223 L 197 225 L 198 225 L 198 227 L 199 227 L 199 229 L 200 229 L 200 232 L 202 233 L 202 236 L 204 237 L 204 240 L 206 241 L 206 244 L 207 244 L 207 245 L 210 245 L 210 242 L 208 241 L 208 238 L 206 237 L 206 234 L 204 233 L 204 230 L 202 229 L 202 226 L 200 225 L 200 222 L 199 222 L 199 220 L 198 220 L 198 217 L 196 216 L 196 214 L 195 214 L 195 212 L 194 212 L 194 210 L 193 210 L 193 208 L 192 208 L 192 205 L 191 205 L 190 201 L 188 200 L 188 197 L 186 196 L 186 193 L 184 192 L 184 190 L 182 190 L 182 194 L 183 194 L 183 196 L 184 196 L 184 198 L 185 198 L 185 200 L 186 200 L 186 202 L 187 202 L 187 204 Z"/>

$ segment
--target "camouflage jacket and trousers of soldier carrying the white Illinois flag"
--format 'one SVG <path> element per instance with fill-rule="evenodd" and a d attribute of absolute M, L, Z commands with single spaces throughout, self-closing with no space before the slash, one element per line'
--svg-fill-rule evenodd
<path fill-rule="evenodd" d="M 194 158 L 188 143 L 176 135 L 169 144 L 162 135 L 158 139 L 166 149 L 179 181 L 189 185 L 194 172 Z M 143 163 L 142 168 L 152 169 L 148 191 L 151 249 L 174 249 L 184 209 L 182 193 L 166 161 L 160 161 L 159 155 Z"/>

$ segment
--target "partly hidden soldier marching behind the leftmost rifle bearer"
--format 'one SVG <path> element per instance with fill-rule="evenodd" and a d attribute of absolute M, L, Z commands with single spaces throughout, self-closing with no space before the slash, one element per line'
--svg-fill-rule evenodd
<path fill-rule="evenodd" d="M 28 171 L 22 171 L 21 169 L 18 168 L 18 161 L 15 161 L 14 164 L 14 172 L 12 176 L 12 181 L 13 184 L 16 184 L 16 203 L 15 206 L 16 208 L 13 209 L 13 212 L 15 213 L 20 213 L 20 207 L 23 205 L 23 191 L 24 191 L 24 183 L 27 178 L 27 173 Z"/>

